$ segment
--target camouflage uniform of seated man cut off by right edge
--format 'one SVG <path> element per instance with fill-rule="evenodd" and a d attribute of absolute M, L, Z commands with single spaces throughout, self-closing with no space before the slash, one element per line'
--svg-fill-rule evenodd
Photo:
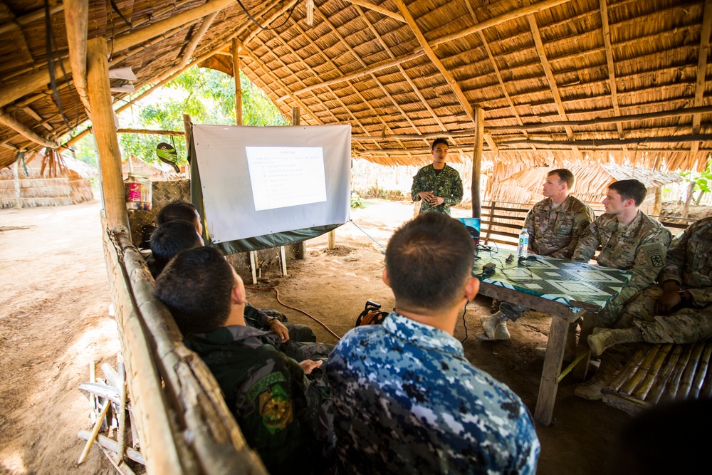
<path fill-rule="evenodd" d="M 660 285 L 632 298 L 618 323 L 635 325 L 648 343 L 697 343 L 712 337 L 712 217 L 693 223 L 673 239 L 659 282 L 675 281 L 692 296 L 671 315 L 655 315 Z"/>

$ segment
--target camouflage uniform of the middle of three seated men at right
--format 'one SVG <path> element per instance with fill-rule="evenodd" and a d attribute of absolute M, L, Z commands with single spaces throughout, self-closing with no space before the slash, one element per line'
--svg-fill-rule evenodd
<path fill-rule="evenodd" d="M 588 262 L 601 246 L 596 258 L 600 266 L 625 269 L 633 274 L 628 286 L 597 314 L 596 326 L 612 328 L 630 298 L 655 281 L 665 266 L 670 241 L 670 231 L 641 211 L 623 229 L 619 229 L 618 218 L 611 214 L 602 214 L 590 224 L 572 259 Z"/>

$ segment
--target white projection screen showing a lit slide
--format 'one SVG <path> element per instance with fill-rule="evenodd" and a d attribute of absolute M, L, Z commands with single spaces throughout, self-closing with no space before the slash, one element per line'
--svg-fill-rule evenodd
<path fill-rule="evenodd" d="M 212 242 L 349 220 L 350 125 L 193 125 L 193 142 Z"/>

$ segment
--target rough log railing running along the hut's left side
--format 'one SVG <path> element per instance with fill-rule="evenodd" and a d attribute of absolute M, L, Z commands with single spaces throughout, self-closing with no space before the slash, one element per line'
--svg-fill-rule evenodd
<path fill-rule="evenodd" d="M 104 256 L 128 392 L 149 474 L 266 474 L 204 362 L 182 343 L 123 226 L 103 221 Z"/>

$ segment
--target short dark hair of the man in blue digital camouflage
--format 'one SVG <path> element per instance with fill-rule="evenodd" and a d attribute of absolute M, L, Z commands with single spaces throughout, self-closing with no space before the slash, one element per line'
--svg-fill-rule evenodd
<path fill-rule="evenodd" d="M 388 280 L 399 308 L 441 310 L 464 296 L 475 245 L 465 226 L 438 212 L 401 226 L 386 249 Z"/>

